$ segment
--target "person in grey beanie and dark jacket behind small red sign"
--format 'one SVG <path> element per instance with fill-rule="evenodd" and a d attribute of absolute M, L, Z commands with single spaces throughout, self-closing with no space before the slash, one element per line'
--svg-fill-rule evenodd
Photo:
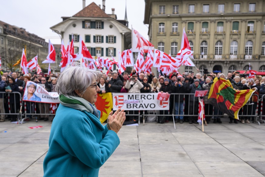
<path fill-rule="evenodd" d="M 189 85 L 187 84 L 187 90 L 189 93 L 192 93 L 189 95 L 189 115 L 195 115 L 195 116 L 189 116 L 189 123 L 198 123 L 198 106 L 199 106 L 199 100 L 197 97 L 195 97 L 195 91 L 196 90 L 202 90 L 201 85 L 199 85 L 200 80 L 195 79 L 194 83 Z"/>

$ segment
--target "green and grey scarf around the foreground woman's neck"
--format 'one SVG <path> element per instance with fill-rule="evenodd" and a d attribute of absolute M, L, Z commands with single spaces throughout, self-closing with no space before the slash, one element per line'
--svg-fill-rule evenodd
<path fill-rule="evenodd" d="M 99 113 L 96 106 L 92 105 L 90 102 L 83 98 L 76 96 L 59 95 L 59 101 L 63 106 L 67 106 L 80 111 L 86 111 L 99 118 Z"/>

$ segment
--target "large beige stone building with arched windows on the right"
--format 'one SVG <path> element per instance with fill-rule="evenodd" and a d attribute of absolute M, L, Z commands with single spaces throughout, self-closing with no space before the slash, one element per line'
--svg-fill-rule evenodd
<path fill-rule="evenodd" d="M 263 0 L 145 0 L 144 23 L 155 48 L 175 56 L 185 27 L 195 65 L 203 71 L 265 71 Z M 182 66 L 179 70 L 195 71 Z"/>

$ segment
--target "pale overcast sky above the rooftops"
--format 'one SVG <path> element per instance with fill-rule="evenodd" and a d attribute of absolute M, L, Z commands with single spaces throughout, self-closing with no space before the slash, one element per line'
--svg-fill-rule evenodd
<path fill-rule="evenodd" d="M 52 32 L 51 26 L 62 21 L 62 16 L 73 16 L 82 10 L 82 0 L 0 0 L 0 20 L 34 33 L 53 44 L 60 44 L 57 33 Z M 95 2 L 101 5 L 102 0 L 86 0 L 86 6 Z M 105 12 L 111 14 L 115 8 L 117 19 L 124 19 L 125 0 L 106 0 Z M 127 19 L 131 26 L 148 38 L 148 25 L 144 25 L 144 0 L 127 0 Z"/>

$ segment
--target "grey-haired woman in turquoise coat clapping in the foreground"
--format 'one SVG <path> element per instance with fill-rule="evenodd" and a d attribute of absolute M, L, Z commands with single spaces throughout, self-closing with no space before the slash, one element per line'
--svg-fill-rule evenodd
<path fill-rule="evenodd" d="M 58 77 L 60 105 L 53 119 L 49 151 L 43 161 L 46 176 L 98 176 L 99 168 L 120 143 L 117 136 L 124 110 L 111 111 L 105 126 L 100 123 L 97 71 L 74 63 Z"/>

